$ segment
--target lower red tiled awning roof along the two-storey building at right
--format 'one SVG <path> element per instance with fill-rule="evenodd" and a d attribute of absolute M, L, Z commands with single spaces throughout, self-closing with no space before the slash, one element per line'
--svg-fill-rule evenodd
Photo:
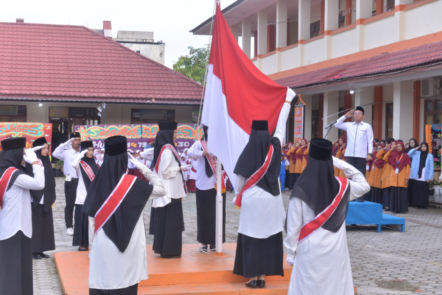
<path fill-rule="evenodd" d="M 408 48 L 401 51 L 383 53 L 368 59 L 360 59 L 320 70 L 288 76 L 275 81 L 282 86 L 304 88 L 349 78 L 392 74 L 415 66 L 434 64 L 442 61 L 442 41 Z"/>

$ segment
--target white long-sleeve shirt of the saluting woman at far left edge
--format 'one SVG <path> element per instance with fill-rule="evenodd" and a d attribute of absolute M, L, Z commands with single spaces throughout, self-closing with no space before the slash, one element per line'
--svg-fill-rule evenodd
<path fill-rule="evenodd" d="M 0 240 L 14 236 L 18 231 L 32 237 L 29 190 L 41 190 L 45 187 L 44 168 L 35 164 L 32 165 L 32 172 L 34 177 L 19 175 L 4 195 L 3 208 L 0 211 Z"/>

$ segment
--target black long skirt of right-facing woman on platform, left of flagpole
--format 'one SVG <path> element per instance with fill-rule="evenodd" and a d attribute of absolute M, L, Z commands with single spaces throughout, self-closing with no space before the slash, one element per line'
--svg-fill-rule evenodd
<path fill-rule="evenodd" d="M 161 255 L 181 255 L 184 216 L 181 199 L 171 199 L 164 207 L 152 207 L 149 235 L 153 235 L 152 250 Z"/>

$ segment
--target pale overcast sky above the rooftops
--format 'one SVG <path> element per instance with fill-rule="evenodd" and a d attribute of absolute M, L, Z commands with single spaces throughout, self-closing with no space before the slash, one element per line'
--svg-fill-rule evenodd
<path fill-rule="evenodd" d="M 221 9 L 235 0 L 220 0 Z M 214 0 L 3 0 L 0 22 L 78 25 L 103 29 L 112 22 L 112 35 L 118 30 L 153 31 L 155 41 L 166 43 L 165 65 L 188 54 L 188 46 L 203 47 L 209 36 L 189 32 L 212 16 Z"/>

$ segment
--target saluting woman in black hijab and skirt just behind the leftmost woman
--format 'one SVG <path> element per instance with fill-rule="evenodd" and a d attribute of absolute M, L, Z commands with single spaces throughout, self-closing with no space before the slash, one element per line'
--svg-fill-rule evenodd
<path fill-rule="evenodd" d="M 54 219 L 52 216 L 52 206 L 54 205 L 55 177 L 49 159 L 49 145 L 44 137 L 37 138 L 32 143 L 32 147 L 42 147 L 35 150 L 39 159 L 38 164 L 43 166 L 45 175 L 45 188 L 42 190 L 31 190 L 32 203 L 32 258 L 49 258 L 45 251 L 55 250 Z M 30 177 L 34 177 L 33 167 L 26 164 L 26 172 Z"/>

